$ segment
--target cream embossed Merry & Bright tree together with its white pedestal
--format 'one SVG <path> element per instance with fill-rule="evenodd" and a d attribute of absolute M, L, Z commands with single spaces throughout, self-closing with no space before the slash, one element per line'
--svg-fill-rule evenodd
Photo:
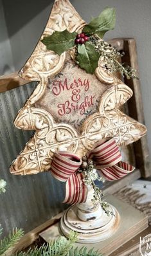
<path fill-rule="evenodd" d="M 104 70 L 101 58 L 95 73 L 86 73 L 73 60 L 73 49 L 57 55 L 41 42 L 54 32 L 81 33 L 85 24 L 69 0 L 55 0 L 48 24 L 19 73 L 28 81 L 37 81 L 37 87 L 14 123 L 35 133 L 13 161 L 12 174 L 51 170 L 55 152 L 67 151 L 82 158 L 104 138 L 113 137 L 117 145 L 129 145 L 146 133 L 144 125 L 120 111 L 132 90 Z M 92 198 L 89 188 L 86 203 L 71 206 L 64 214 L 60 228 L 65 235 L 75 230 L 80 242 L 98 242 L 118 229 L 117 210 L 110 206 L 115 217 L 108 217 L 99 204 L 93 206 Z"/>

